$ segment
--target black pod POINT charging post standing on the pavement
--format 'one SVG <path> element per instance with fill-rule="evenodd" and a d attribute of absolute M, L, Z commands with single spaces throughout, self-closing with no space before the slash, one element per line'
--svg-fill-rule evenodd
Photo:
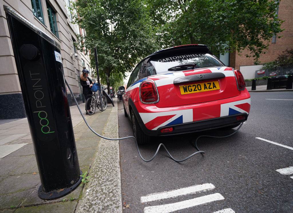
<path fill-rule="evenodd" d="M 81 182 L 60 45 L 4 5 L 42 185 L 38 196 L 62 197 Z"/>

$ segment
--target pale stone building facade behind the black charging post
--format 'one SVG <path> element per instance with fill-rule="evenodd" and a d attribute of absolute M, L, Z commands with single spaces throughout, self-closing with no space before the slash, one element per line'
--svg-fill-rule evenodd
<path fill-rule="evenodd" d="M 71 0 L 72 1 L 72 0 Z M 3 5 L 10 7 L 47 33 L 61 46 L 64 75 L 79 102 L 82 66 L 91 72 L 88 55 L 73 44 L 84 30 L 71 23 L 70 0 L 0 0 L 0 119 L 23 118 L 25 109 Z M 69 103 L 73 103 L 68 95 Z"/>

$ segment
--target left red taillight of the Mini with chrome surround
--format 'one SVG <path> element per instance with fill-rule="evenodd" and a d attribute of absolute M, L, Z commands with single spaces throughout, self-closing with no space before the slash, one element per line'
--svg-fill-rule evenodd
<path fill-rule="evenodd" d="M 154 104 L 159 102 L 157 87 L 152 80 L 146 80 L 139 87 L 140 100 L 144 104 Z"/>

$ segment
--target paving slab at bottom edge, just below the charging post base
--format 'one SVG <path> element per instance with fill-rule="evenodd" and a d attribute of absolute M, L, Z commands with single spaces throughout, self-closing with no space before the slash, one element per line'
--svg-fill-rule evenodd
<path fill-rule="evenodd" d="M 72 213 L 76 207 L 76 201 L 52 203 L 41 206 L 21 207 L 14 213 Z"/>

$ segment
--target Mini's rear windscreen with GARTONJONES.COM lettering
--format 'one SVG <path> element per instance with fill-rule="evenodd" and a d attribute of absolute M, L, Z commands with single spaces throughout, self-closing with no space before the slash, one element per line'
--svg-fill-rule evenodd
<path fill-rule="evenodd" d="M 197 68 L 224 66 L 215 56 L 197 48 L 176 50 L 152 56 L 147 63 L 148 76 Z"/>

